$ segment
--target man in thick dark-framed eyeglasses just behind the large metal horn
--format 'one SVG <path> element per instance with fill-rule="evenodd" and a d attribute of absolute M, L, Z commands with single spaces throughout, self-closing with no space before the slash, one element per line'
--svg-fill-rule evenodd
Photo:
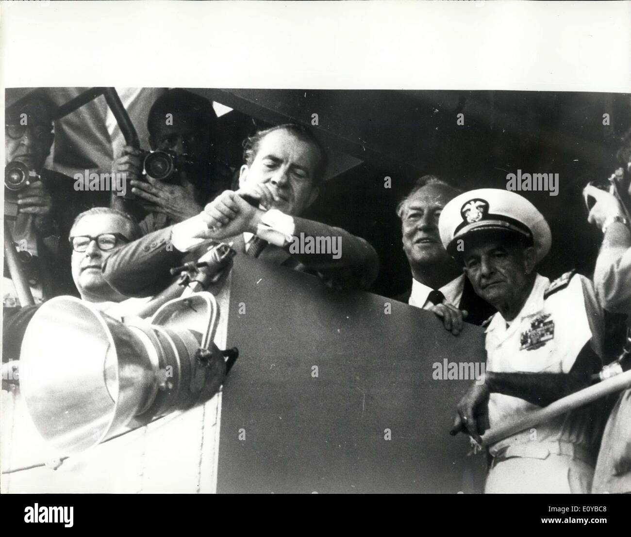
<path fill-rule="evenodd" d="M 134 315 L 138 308 L 151 299 L 127 298 L 114 291 L 105 282 L 101 272 L 103 263 L 112 253 L 141 236 L 133 217 L 109 207 L 95 207 L 76 217 L 69 244 L 73 248 L 73 280 L 81 299 L 119 320 L 123 316 Z M 40 305 L 4 308 L 3 362 L 19 358 L 24 332 Z"/>

